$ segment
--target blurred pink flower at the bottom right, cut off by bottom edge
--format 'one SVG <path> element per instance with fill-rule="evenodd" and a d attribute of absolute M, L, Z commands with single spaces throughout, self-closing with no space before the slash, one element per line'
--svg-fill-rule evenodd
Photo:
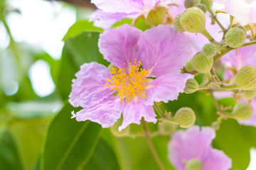
<path fill-rule="evenodd" d="M 203 170 L 228 170 L 231 159 L 223 151 L 213 149 L 211 142 L 215 131 L 210 127 L 200 128 L 194 125 L 187 130 L 178 130 L 169 142 L 169 160 L 176 169 L 186 169 L 186 162 L 197 158 L 203 164 Z"/>

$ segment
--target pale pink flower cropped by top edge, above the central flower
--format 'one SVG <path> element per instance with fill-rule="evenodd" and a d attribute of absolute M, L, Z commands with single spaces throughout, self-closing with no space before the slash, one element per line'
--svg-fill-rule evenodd
<path fill-rule="evenodd" d="M 145 18 L 149 15 L 149 11 L 156 6 L 164 6 L 168 9 L 169 16 L 174 18 L 172 14 L 177 14 L 177 6 L 169 6 L 177 0 L 91 0 L 97 6 L 97 10 L 90 16 L 90 21 L 94 25 L 103 29 L 109 29 L 117 21 L 123 18 L 136 19 L 139 16 Z M 178 0 L 178 3 L 184 3 L 185 0 Z M 174 12 L 171 13 L 171 9 Z M 181 9 L 183 10 L 183 8 Z M 182 11 L 179 11 L 181 13 Z"/>

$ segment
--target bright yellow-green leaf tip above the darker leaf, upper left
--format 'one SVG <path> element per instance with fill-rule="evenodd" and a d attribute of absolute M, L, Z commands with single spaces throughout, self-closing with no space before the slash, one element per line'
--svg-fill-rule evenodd
<path fill-rule="evenodd" d="M 82 32 L 98 32 L 102 33 L 102 28 L 97 28 L 93 26 L 92 22 L 89 22 L 87 20 L 85 21 L 77 21 L 68 29 L 68 33 L 65 34 L 63 40 L 68 40 L 68 38 L 74 38 L 77 35 L 80 35 Z"/>

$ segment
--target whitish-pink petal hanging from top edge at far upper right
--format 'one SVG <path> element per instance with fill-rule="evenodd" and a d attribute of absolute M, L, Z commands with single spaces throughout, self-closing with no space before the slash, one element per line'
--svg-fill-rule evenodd
<path fill-rule="evenodd" d="M 250 5 L 241 0 L 225 0 L 225 11 L 242 25 L 250 23 Z"/>

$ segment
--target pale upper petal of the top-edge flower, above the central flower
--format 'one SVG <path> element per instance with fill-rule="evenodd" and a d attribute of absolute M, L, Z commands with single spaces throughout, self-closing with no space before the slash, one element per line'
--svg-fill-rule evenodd
<path fill-rule="evenodd" d="M 143 9 L 142 0 L 91 0 L 97 8 L 109 13 L 134 13 Z"/>

